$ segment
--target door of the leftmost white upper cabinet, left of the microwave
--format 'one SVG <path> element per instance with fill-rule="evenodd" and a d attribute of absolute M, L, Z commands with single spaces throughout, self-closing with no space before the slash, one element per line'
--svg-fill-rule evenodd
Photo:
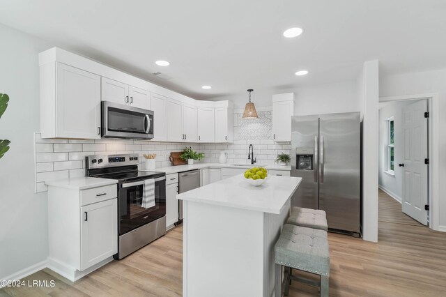
<path fill-rule="evenodd" d="M 100 76 L 57 63 L 56 137 L 100 139 Z"/>

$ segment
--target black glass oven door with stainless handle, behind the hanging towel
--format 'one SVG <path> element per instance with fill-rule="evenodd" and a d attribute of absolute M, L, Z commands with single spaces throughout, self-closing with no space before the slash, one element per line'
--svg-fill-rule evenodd
<path fill-rule="evenodd" d="M 155 205 L 144 207 L 144 180 L 120 183 L 118 190 L 119 235 L 166 215 L 166 177 L 155 178 Z"/>

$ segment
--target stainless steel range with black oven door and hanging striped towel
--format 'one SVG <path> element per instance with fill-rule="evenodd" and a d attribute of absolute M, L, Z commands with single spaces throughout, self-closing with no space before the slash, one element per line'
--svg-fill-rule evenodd
<path fill-rule="evenodd" d="M 86 176 L 118 180 L 118 254 L 122 259 L 166 234 L 166 174 L 139 172 L 138 155 L 86 156 Z"/>

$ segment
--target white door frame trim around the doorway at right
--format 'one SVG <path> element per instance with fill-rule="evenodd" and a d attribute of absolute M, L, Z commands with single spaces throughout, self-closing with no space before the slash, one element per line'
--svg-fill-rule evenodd
<path fill-rule="evenodd" d="M 438 229 L 438 93 L 380 97 L 379 102 L 422 99 L 426 99 L 429 105 L 429 228 L 443 231 Z"/>

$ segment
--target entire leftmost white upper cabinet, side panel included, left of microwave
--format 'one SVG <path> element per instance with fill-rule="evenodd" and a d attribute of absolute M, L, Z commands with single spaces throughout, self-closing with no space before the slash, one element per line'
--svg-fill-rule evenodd
<path fill-rule="evenodd" d="M 59 62 L 41 65 L 40 132 L 100 139 L 100 76 Z"/>

